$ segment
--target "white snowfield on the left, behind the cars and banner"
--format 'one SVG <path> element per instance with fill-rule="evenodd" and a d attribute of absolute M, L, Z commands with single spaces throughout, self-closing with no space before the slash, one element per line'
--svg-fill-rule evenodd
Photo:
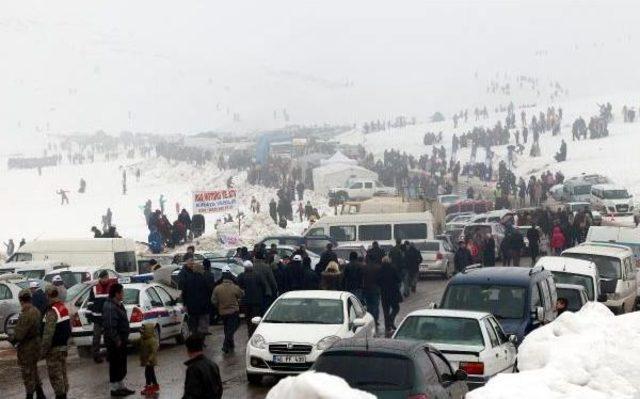
<path fill-rule="evenodd" d="M 226 181 L 235 171 L 220 171 L 215 166 L 198 168 L 185 163 L 170 163 L 164 159 L 128 161 L 126 166 L 142 170 L 140 182 L 129 170 L 128 190 L 122 195 L 122 161 L 96 162 L 94 164 L 68 165 L 44 168 L 42 176 L 36 170 L 2 170 L 0 186 L 4 188 L 0 196 L 0 206 L 4 210 L 0 223 L 2 241 L 21 238 L 31 241 L 38 238 L 81 238 L 91 237 L 91 226 L 101 226 L 101 216 L 108 207 L 113 212 L 113 223 L 123 237 L 147 241 L 143 206 L 151 199 L 153 209 L 159 208 L 159 197 L 166 198 L 165 212 L 173 221 L 177 217 L 176 206 L 186 208 L 191 213 L 191 192 L 194 190 L 215 190 L 226 188 Z M 87 191 L 78 193 L 80 178 L 87 181 Z M 268 204 L 275 197 L 275 190 L 246 183 L 246 175 L 234 176 L 234 186 L 238 189 L 239 210 L 246 216 L 240 235 L 237 224 L 221 226 L 223 237 L 218 237 L 214 223 L 222 214 L 206 215 L 206 236 L 199 241 L 206 248 L 220 246 L 220 238 L 228 243 L 251 244 L 266 234 L 281 233 L 269 218 Z M 69 190 L 69 205 L 60 205 L 57 190 Z M 251 197 L 261 203 L 261 213 L 252 214 L 249 209 Z M 307 191 L 307 198 L 319 206 L 327 203 L 326 198 Z M 297 203 L 295 204 L 297 207 Z M 236 212 L 232 212 L 235 219 Z M 305 222 L 306 223 L 306 222 Z M 287 231 L 301 233 L 306 227 L 302 223 L 289 223 Z"/>

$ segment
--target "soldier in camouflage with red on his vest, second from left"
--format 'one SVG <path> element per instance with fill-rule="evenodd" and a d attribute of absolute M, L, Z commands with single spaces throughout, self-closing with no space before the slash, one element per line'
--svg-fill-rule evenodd
<path fill-rule="evenodd" d="M 47 361 L 49 381 L 56 399 L 64 399 L 69 392 L 67 379 L 67 343 L 71 337 L 69 310 L 58 298 L 50 298 L 50 306 L 44 317 L 42 357 Z"/>

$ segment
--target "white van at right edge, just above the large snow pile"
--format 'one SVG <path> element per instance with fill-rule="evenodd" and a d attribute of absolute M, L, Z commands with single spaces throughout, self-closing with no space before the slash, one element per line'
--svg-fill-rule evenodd
<path fill-rule="evenodd" d="M 633 252 L 629 247 L 609 243 L 590 243 L 569 248 L 562 256 L 588 260 L 596 264 L 600 276 L 600 292 L 605 305 L 616 314 L 634 310 L 638 292 Z"/>

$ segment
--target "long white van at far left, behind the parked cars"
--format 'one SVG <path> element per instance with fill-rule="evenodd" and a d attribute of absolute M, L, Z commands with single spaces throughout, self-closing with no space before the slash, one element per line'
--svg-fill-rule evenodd
<path fill-rule="evenodd" d="M 5 266 L 28 261 L 58 261 L 71 266 L 93 265 L 118 273 L 135 273 L 135 243 L 126 238 L 36 240 L 24 244 Z"/>

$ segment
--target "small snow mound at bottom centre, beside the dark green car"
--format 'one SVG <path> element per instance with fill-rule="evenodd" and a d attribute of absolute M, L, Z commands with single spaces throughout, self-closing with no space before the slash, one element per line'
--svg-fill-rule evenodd
<path fill-rule="evenodd" d="M 375 396 L 353 389 L 340 377 L 308 372 L 287 377 L 267 394 L 267 399 L 375 399 Z"/>

